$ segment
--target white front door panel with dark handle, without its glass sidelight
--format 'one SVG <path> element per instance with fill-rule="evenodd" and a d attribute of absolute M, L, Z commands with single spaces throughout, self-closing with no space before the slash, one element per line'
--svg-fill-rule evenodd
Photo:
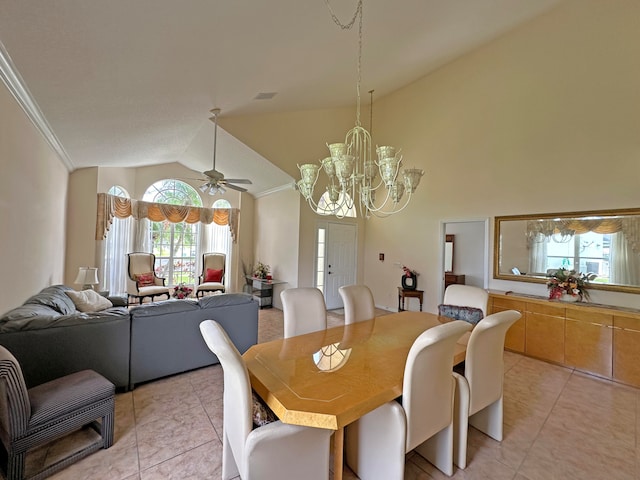
<path fill-rule="evenodd" d="M 356 225 L 329 223 L 326 238 L 324 299 L 327 309 L 341 308 L 338 289 L 356 281 Z"/>

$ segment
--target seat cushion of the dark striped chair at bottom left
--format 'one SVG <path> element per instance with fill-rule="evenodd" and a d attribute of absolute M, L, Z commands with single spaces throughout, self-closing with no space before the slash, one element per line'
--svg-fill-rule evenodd
<path fill-rule="evenodd" d="M 115 395 L 115 386 L 93 370 L 82 370 L 29 389 L 29 429 Z"/>

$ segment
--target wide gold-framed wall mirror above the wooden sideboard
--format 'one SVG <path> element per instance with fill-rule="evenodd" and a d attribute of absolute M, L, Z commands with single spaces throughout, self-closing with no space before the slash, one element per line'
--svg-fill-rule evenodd
<path fill-rule="evenodd" d="M 496 217 L 494 234 L 493 278 L 545 283 L 564 267 L 640 293 L 640 209 Z"/>

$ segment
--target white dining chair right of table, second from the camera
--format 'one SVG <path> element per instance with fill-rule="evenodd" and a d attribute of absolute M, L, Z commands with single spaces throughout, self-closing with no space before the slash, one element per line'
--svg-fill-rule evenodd
<path fill-rule="evenodd" d="M 467 466 L 469 425 L 502 441 L 504 339 L 507 330 L 522 315 L 516 310 L 494 313 L 480 321 L 471 331 L 467 343 L 464 376 L 456 379 L 454 462 Z"/>

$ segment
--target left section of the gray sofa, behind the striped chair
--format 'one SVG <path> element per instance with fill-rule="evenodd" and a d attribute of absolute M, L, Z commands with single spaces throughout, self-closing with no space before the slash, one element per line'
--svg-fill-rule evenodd
<path fill-rule="evenodd" d="M 114 306 L 82 313 L 65 290 L 71 289 L 46 287 L 2 315 L 0 345 L 20 362 L 28 388 L 87 368 L 126 388 L 131 338 L 128 309 Z M 118 304 L 120 299 L 110 300 Z"/>

